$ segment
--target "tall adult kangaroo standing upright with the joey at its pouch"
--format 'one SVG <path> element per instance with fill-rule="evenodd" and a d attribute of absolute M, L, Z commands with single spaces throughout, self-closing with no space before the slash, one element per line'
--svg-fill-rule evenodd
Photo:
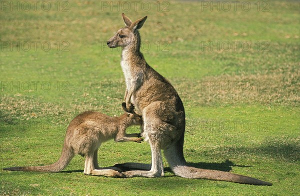
<path fill-rule="evenodd" d="M 110 48 L 122 47 L 121 67 L 126 81 L 125 109 L 131 111 L 134 105 L 136 112 L 142 115 L 144 123 L 141 135 L 149 142 L 152 155 L 151 164 L 118 164 L 120 167 L 147 169 L 125 171 L 125 176 L 163 176 L 163 149 L 170 168 L 178 176 L 271 185 L 270 182 L 252 177 L 187 165 L 183 157 L 185 113 L 182 101 L 170 82 L 147 64 L 139 50 L 138 29 L 142 27 L 147 16 L 132 22 L 122 13 L 122 18 L 125 27 L 120 28 L 107 41 L 107 45 Z"/>

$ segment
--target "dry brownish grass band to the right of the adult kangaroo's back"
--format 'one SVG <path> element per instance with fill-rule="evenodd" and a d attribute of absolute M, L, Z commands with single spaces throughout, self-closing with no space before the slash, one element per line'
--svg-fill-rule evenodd
<path fill-rule="evenodd" d="M 194 105 L 260 103 L 299 106 L 300 71 L 207 76 L 173 81 L 182 99 Z"/>

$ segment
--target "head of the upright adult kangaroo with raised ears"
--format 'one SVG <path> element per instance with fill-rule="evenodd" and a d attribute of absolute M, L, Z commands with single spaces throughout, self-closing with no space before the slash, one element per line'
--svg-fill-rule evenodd
<path fill-rule="evenodd" d="M 126 47 L 139 39 L 139 34 L 137 29 L 141 28 L 144 21 L 147 19 L 147 16 L 140 18 L 134 22 L 132 22 L 124 13 L 122 13 L 122 17 L 125 23 L 125 27 L 120 28 L 115 35 L 110 37 L 107 41 L 107 45 L 110 48 L 114 47 Z"/>

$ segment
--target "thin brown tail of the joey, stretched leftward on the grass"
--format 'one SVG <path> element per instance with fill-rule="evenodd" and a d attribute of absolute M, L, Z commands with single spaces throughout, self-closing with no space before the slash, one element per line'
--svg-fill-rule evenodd
<path fill-rule="evenodd" d="M 58 172 L 66 167 L 66 165 L 73 158 L 74 153 L 67 149 L 65 146 L 62 149 L 60 158 L 53 164 L 44 166 L 14 166 L 6 167 L 3 170 L 10 171 L 40 171 L 40 172 Z"/>

